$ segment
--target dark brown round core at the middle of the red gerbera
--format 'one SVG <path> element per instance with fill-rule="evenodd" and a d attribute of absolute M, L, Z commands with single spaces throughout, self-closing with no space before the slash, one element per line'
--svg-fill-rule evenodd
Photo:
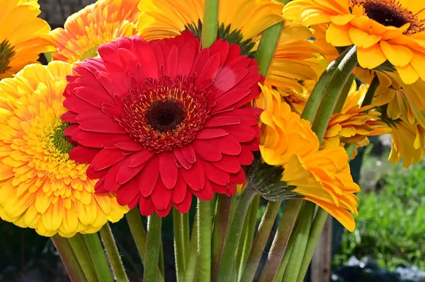
<path fill-rule="evenodd" d="M 166 132 L 176 129 L 184 120 L 183 108 L 179 101 L 159 101 L 152 103 L 146 119 L 154 130 Z"/>

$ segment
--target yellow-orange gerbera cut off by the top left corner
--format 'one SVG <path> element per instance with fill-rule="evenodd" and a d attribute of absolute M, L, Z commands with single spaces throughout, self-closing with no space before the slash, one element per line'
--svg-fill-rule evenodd
<path fill-rule="evenodd" d="M 11 77 L 42 52 L 55 47 L 50 26 L 41 18 L 37 1 L 2 0 L 0 11 L 0 79 Z"/>

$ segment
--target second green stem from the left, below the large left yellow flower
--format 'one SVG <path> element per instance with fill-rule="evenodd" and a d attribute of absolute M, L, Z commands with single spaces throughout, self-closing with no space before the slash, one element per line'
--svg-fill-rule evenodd
<path fill-rule="evenodd" d="M 91 262 L 89 252 L 87 251 L 86 244 L 84 243 L 83 235 L 77 233 L 68 239 L 74 254 L 77 256 L 81 269 L 86 276 L 87 281 L 98 281 L 96 271 L 94 270 L 93 263 Z"/>

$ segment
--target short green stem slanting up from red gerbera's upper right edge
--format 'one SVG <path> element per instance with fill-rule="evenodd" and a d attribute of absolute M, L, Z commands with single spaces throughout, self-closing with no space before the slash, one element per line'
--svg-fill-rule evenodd
<path fill-rule="evenodd" d="M 278 46 L 282 28 L 283 22 L 276 23 L 276 25 L 272 25 L 270 28 L 264 30 L 263 35 L 261 35 L 259 47 L 256 50 L 256 60 L 259 63 L 259 74 L 263 76 L 267 75 L 273 54 Z"/>

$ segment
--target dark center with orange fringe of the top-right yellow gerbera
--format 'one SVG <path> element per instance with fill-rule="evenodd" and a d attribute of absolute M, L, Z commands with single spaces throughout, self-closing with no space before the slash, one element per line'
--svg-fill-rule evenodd
<path fill-rule="evenodd" d="M 425 30 L 425 26 L 411 11 L 404 8 L 397 0 L 351 0 L 351 7 L 363 8 L 366 16 L 385 26 L 401 28 L 409 23 L 407 35 Z"/>

